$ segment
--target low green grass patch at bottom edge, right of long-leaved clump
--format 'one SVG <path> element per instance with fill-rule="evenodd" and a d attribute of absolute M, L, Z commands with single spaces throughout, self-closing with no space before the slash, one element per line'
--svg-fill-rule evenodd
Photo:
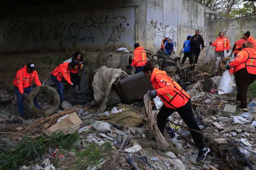
<path fill-rule="evenodd" d="M 89 145 L 88 149 L 76 153 L 78 159 L 70 168 L 84 170 L 88 166 L 97 166 L 106 156 L 109 156 L 108 153 L 111 149 L 110 142 L 106 142 L 101 146 L 92 143 Z"/>

